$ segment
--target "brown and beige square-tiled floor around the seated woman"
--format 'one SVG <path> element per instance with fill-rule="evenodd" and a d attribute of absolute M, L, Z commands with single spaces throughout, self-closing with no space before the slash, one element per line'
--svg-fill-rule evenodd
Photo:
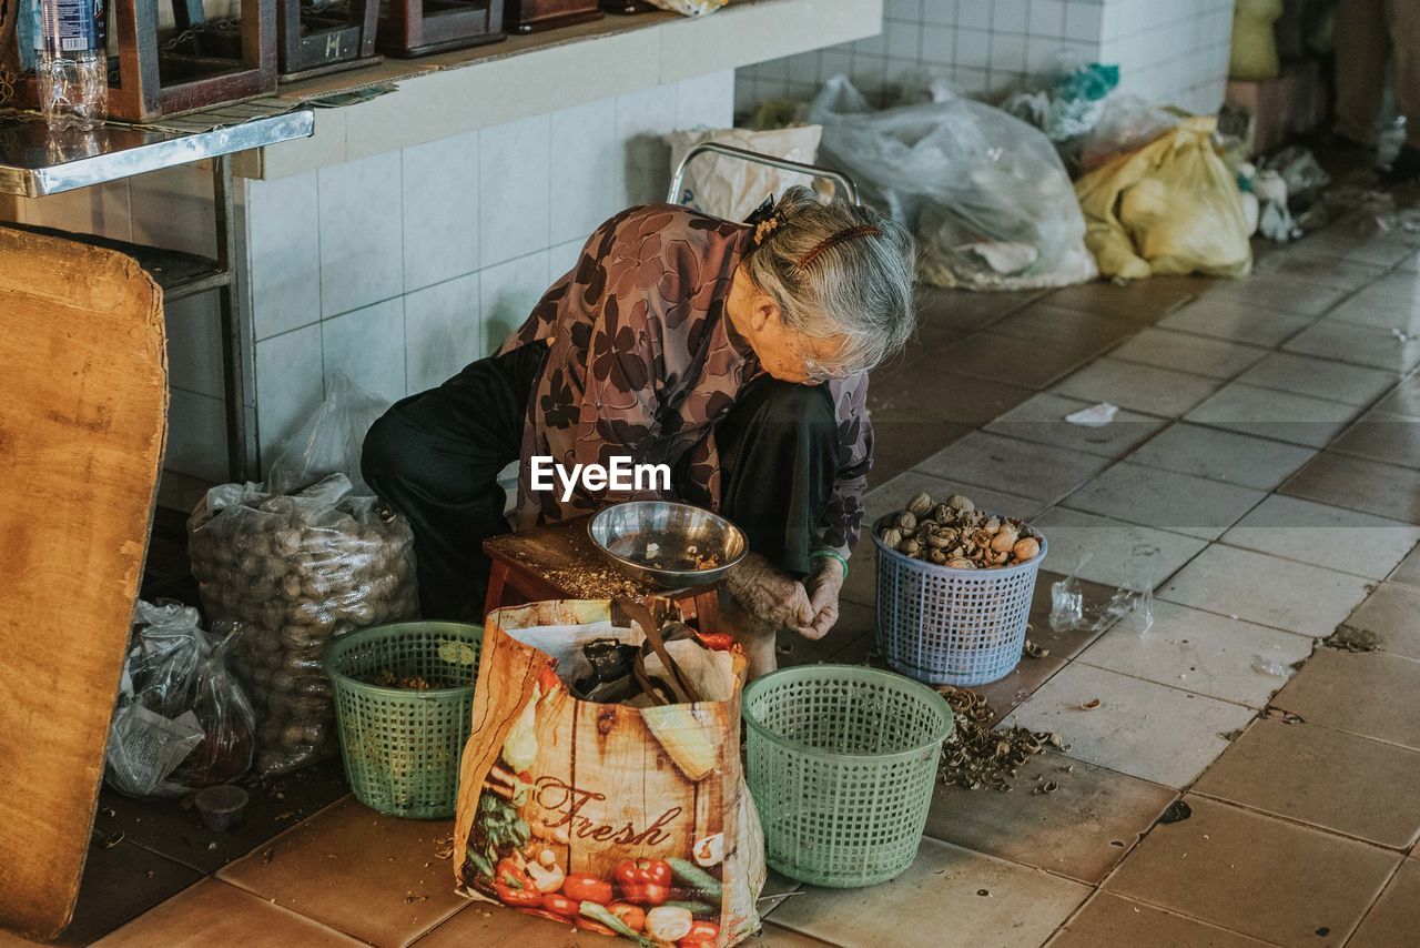
<path fill-rule="evenodd" d="M 1260 252 L 1237 281 L 923 291 L 919 344 L 872 385 L 869 517 L 929 490 L 1035 522 L 1049 657 L 981 692 L 1069 749 L 1015 793 L 939 787 L 893 883 L 771 877 L 758 944 L 1414 944 L 1420 343 L 1392 330 L 1420 331 L 1420 236 L 1355 215 Z M 1112 424 L 1064 421 L 1096 401 Z M 852 566 L 838 630 L 785 662 L 876 661 L 869 543 Z M 1068 571 L 1091 603 L 1153 590 L 1150 632 L 1052 634 Z M 192 598 L 180 543 L 145 591 Z M 1376 650 L 1319 645 L 1338 625 Z M 379 817 L 331 765 L 227 836 L 101 806 L 68 944 L 611 944 L 456 898 L 450 824 Z"/>

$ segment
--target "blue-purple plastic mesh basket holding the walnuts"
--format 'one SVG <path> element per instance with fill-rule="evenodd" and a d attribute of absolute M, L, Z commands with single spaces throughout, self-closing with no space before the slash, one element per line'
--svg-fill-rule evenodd
<path fill-rule="evenodd" d="M 878 651 L 930 685 L 984 685 L 1021 661 L 1035 577 L 1045 559 L 958 570 L 878 546 Z"/>

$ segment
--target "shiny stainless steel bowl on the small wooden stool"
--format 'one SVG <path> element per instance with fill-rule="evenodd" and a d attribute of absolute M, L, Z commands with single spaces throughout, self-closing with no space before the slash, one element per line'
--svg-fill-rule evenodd
<path fill-rule="evenodd" d="M 622 570 L 670 590 L 719 583 L 748 550 L 740 527 L 724 517 L 669 500 L 612 505 L 586 532 Z M 696 569 L 707 559 L 714 566 Z"/>

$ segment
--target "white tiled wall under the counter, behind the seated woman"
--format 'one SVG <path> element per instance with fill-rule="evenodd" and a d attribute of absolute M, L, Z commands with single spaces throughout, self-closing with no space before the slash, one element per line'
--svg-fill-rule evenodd
<path fill-rule="evenodd" d="M 275 181 L 239 182 L 247 397 L 263 466 L 345 372 L 385 402 L 490 354 L 585 237 L 662 200 L 674 128 L 731 124 L 716 72 Z M 210 171 L 18 200 L 47 226 L 213 253 Z M 226 478 L 216 298 L 168 307 L 168 466 Z"/>

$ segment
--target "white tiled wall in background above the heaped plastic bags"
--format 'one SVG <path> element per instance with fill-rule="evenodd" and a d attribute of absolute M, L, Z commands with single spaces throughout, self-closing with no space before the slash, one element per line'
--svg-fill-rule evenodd
<path fill-rule="evenodd" d="M 997 99 L 1066 57 L 1119 63 L 1127 91 L 1214 111 L 1231 17 L 1233 0 L 886 0 L 876 37 L 740 70 L 736 109 L 809 98 L 839 72 L 882 98 L 903 72 L 923 67 Z"/>

